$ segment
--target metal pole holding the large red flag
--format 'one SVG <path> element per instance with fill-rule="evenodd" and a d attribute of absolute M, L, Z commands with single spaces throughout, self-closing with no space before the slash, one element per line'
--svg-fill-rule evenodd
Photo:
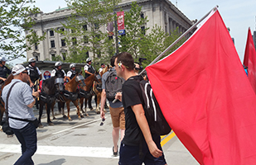
<path fill-rule="evenodd" d="M 214 8 L 212 8 L 212 9 L 210 10 L 210 12 L 213 11 L 213 10 L 216 10 L 217 7 L 219 7 L 219 6 L 218 6 L 218 5 L 215 6 Z M 208 15 L 210 14 L 210 12 L 208 12 L 207 14 L 205 14 L 205 16 L 203 16 L 203 17 L 200 19 L 200 21 L 197 21 L 193 26 L 191 26 L 185 33 L 183 33 L 177 40 L 175 40 L 166 50 L 164 50 L 164 51 L 162 52 L 162 54 L 158 55 L 157 58 L 154 59 L 154 60 L 151 62 L 151 64 L 148 64 L 147 66 L 150 66 L 150 65 L 152 65 L 152 64 L 155 64 L 155 63 L 162 57 L 163 54 L 166 54 L 167 51 L 170 50 L 174 45 L 176 45 L 176 43 L 178 43 L 185 35 L 187 35 L 189 32 L 191 32 L 191 31 L 195 28 L 195 26 L 197 26 L 201 21 L 205 20 L 205 17 L 208 16 Z M 142 72 L 139 73 L 139 74 L 141 75 L 141 74 L 144 73 L 145 71 L 146 71 L 146 69 L 144 68 L 144 69 L 142 70 Z"/>

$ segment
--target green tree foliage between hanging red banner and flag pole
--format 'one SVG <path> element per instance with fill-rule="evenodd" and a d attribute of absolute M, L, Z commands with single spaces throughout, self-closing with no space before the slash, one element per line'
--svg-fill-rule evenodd
<path fill-rule="evenodd" d="M 152 29 L 145 28 L 144 31 L 142 31 L 141 27 L 146 26 L 148 20 L 147 16 L 142 18 L 141 9 L 142 7 L 139 7 L 136 2 L 133 2 L 131 10 L 124 13 L 126 35 L 119 36 L 119 40 L 121 45 L 120 52 L 126 51 L 133 54 L 133 58 L 137 62 L 141 57 L 147 59 L 142 63 L 143 68 L 145 68 L 181 34 L 178 33 L 178 28 L 175 31 L 171 31 L 171 34 L 168 34 L 163 31 L 161 26 L 157 25 L 153 26 Z M 179 41 L 171 50 L 162 56 L 162 58 L 171 54 L 171 52 L 176 50 L 184 41 L 185 39 Z"/>

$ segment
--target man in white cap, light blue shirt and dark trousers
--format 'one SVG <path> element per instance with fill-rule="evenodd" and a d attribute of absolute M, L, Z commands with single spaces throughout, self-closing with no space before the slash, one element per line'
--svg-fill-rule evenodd
<path fill-rule="evenodd" d="M 13 118 L 35 120 L 36 117 L 32 106 L 34 106 L 36 98 L 39 97 L 39 92 L 32 91 L 27 84 L 28 72 L 21 64 L 12 68 L 12 75 L 12 82 L 2 90 L 2 99 L 6 103 L 6 109 L 8 110 L 9 125 L 22 145 L 22 156 L 14 164 L 32 165 L 34 163 L 31 157 L 36 153 L 36 126 L 31 122 Z M 7 93 L 11 87 L 12 91 L 9 93 L 7 100 Z"/>

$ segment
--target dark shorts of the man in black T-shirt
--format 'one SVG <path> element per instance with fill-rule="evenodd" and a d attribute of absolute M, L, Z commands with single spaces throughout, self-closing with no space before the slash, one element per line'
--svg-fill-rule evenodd
<path fill-rule="evenodd" d="M 162 150 L 160 141 L 160 136 L 153 136 L 154 142 L 157 144 L 157 148 Z M 119 151 L 119 165 L 141 165 L 144 163 L 145 165 L 164 165 L 167 164 L 164 154 L 159 158 L 155 158 L 149 152 L 147 148 L 147 144 L 142 144 L 142 156 L 139 155 L 140 148 L 139 146 L 128 146 L 121 143 L 120 151 Z"/>

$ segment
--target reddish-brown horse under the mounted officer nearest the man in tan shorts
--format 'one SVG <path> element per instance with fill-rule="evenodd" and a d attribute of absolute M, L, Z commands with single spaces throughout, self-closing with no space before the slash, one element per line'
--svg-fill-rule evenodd
<path fill-rule="evenodd" d="M 85 89 L 84 90 L 85 90 L 85 92 L 89 92 L 90 95 L 87 95 L 85 97 L 80 97 L 80 108 L 81 108 L 81 111 L 83 113 L 85 113 L 86 116 L 88 116 L 87 111 L 86 111 L 86 106 L 87 106 L 86 102 L 87 102 L 88 98 L 91 97 L 90 88 L 93 86 L 94 80 L 96 80 L 95 74 L 90 75 L 88 78 L 85 78 Z M 85 111 L 83 110 L 84 99 L 85 99 Z"/>

